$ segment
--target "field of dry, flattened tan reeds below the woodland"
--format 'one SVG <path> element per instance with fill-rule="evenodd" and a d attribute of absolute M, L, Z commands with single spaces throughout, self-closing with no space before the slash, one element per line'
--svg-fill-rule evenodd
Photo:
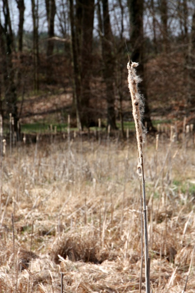
<path fill-rule="evenodd" d="M 61 271 L 64 292 L 138 292 L 136 142 L 49 140 L 4 156 L 0 291 L 60 292 Z M 193 257 L 192 142 L 160 134 L 158 148 L 155 137 L 144 145 L 153 292 L 182 292 Z M 193 260 L 186 292 L 194 280 Z"/>

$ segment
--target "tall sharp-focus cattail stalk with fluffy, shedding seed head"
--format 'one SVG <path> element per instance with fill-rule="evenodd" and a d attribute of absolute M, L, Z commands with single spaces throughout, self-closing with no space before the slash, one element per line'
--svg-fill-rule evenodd
<path fill-rule="evenodd" d="M 132 99 L 133 117 L 135 121 L 137 148 L 139 163 L 137 171 L 142 178 L 142 195 L 143 195 L 143 215 L 144 215 L 144 255 L 145 255 L 145 280 L 146 280 L 146 293 L 150 293 L 150 258 L 148 249 L 148 227 L 147 227 L 147 208 L 146 208 L 146 191 L 145 191 L 145 178 L 144 178 L 144 160 L 142 145 L 144 142 L 145 129 L 142 125 L 141 118 L 143 114 L 143 97 L 139 93 L 138 83 L 141 81 L 139 76 L 136 75 L 135 67 L 138 66 L 136 62 L 128 62 L 128 84 Z"/>

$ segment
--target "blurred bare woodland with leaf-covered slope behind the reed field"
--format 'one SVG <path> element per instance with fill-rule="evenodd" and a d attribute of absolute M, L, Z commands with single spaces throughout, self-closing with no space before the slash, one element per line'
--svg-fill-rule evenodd
<path fill-rule="evenodd" d="M 193 0 L 1 0 L 3 119 L 11 113 L 17 132 L 18 121 L 43 113 L 59 122 L 70 114 L 80 130 L 102 118 L 111 129 L 120 121 L 124 135 L 132 119 L 125 36 L 139 62 L 147 128 L 164 116 L 193 123 Z"/>

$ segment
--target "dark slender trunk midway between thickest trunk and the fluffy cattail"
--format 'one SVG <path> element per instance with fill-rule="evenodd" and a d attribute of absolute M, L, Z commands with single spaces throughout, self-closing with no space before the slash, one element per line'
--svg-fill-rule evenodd
<path fill-rule="evenodd" d="M 103 77 L 106 83 L 107 99 L 107 124 L 112 129 L 117 129 L 115 117 L 115 95 L 114 95 L 114 71 L 115 59 L 113 57 L 113 35 L 108 12 L 108 0 L 102 0 L 103 4 L 103 38 L 102 38 L 102 55 L 104 60 Z"/>

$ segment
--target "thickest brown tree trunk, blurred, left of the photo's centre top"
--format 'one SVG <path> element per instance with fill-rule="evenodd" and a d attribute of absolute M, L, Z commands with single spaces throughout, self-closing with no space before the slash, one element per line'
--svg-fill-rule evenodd
<path fill-rule="evenodd" d="M 73 61 L 74 104 L 77 127 L 89 127 L 94 120 L 89 109 L 91 97 L 90 80 L 92 72 L 92 40 L 94 23 L 94 0 L 77 0 L 75 13 L 70 1 L 71 52 Z"/>

